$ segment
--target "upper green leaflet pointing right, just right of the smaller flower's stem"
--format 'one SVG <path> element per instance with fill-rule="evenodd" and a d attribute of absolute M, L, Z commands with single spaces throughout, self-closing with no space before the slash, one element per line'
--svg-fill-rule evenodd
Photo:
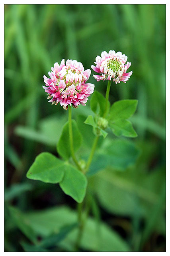
<path fill-rule="evenodd" d="M 109 120 L 127 119 L 137 108 L 138 100 L 119 100 L 113 103 L 109 112 Z"/>

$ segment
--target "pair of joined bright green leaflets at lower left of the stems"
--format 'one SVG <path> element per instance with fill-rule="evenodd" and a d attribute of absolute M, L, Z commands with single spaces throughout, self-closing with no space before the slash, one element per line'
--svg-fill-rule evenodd
<path fill-rule="evenodd" d="M 27 172 L 27 178 L 49 183 L 59 182 L 64 193 L 77 202 L 82 202 L 86 194 L 86 176 L 48 152 L 43 152 L 35 158 Z"/>

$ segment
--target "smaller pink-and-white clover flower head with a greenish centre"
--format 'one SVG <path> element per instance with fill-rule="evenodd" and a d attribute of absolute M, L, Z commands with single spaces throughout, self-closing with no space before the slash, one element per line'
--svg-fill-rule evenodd
<path fill-rule="evenodd" d="M 101 57 L 96 57 L 96 66 L 92 65 L 91 68 L 102 75 L 93 75 L 97 81 L 111 80 L 113 82 L 120 83 L 123 81 L 126 83 L 129 80 L 132 71 L 127 73 L 127 69 L 131 66 L 131 62 L 127 62 L 127 56 L 121 52 L 115 52 L 110 50 L 102 52 Z M 125 64 L 126 63 L 126 64 Z"/>

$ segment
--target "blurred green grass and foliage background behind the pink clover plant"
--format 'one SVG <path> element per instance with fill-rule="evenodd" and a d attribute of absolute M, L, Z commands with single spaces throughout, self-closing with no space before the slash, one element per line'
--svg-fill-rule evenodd
<path fill-rule="evenodd" d="M 57 156 L 67 120 L 61 106 L 48 103 L 43 75 L 63 58 L 90 68 L 103 50 L 121 51 L 132 62 L 130 80 L 112 84 L 109 99 L 139 100 L 131 118 L 138 137 L 131 141 L 140 153 L 123 172 L 113 167 L 94 178 L 81 250 L 165 251 L 166 5 L 7 4 L 4 13 L 5 251 L 36 251 L 33 234 L 41 240 L 76 219 L 76 202 L 58 185 L 28 180 L 25 174 L 40 152 Z M 106 82 L 92 76 L 89 82 L 105 95 Z M 89 113 L 90 100 L 73 110 L 73 118 L 80 123 Z M 81 128 L 82 148 L 88 151 L 92 130 L 86 134 L 86 125 Z M 102 248 L 97 244 L 101 225 Z M 66 236 L 48 250 L 72 250 L 71 242 Z"/>

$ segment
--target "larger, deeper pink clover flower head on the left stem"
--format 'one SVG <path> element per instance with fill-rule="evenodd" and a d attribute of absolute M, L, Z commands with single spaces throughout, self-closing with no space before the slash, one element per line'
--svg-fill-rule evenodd
<path fill-rule="evenodd" d="M 81 62 L 77 60 L 66 60 L 54 64 L 49 72 L 50 78 L 44 76 L 46 86 L 43 86 L 47 92 L 47 99 L 53 105 L 60 105 L 67 110 L 68 105 L 78 108 L 82 104 L 86 106 L 88 96 L 94 92 L 94 84 L 86 83 L 89 79 L 91 70 L 84 70 Z"/>

